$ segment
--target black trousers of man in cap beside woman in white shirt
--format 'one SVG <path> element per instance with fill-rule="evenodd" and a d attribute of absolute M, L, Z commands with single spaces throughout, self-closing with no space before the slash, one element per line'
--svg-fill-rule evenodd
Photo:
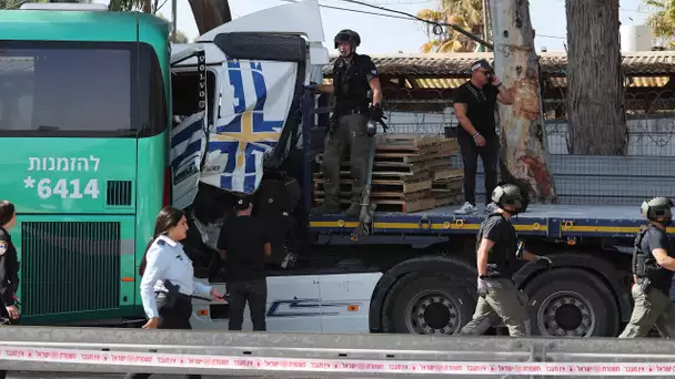
<path fill-rule="evenodd" d="M 253 330 L 265 331 L 268 329 L 265 324 L 268 280 L 265 278 L 228 281 L 228 294 L 230 294 L 230 330 L 241 330 L 246 301 L 249 301 Z"/>

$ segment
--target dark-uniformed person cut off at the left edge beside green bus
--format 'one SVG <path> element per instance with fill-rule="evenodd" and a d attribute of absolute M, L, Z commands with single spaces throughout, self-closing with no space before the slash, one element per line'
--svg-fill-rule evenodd
<path fill-rule="evenodd" d="M 17 225 L 14 205 L 8 201 L 0 201 L 0 299 L 2 299 L 2 324 L 17 324 L 19 308 L 17 308 L 17 289 L 19 288 L 19 256 L 9 231 Z M 7 371 L 0 370 L 0 378 Z"/>

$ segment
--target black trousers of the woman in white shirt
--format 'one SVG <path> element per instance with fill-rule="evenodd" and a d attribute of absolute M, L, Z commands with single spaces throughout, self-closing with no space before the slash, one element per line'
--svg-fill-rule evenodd
<path fill-rule="evenodd" d="M 175 301 L 168 303 L 165 294 L 155 294 L 157 308 L 160 311 L 158 329 L 192 329 L 190 317 L 192 316 L 192 298 L 179 294 Z M 150 378 L 151 373 L 127 373 L 124 379 Z M 190 379 L 200 379 L 201 375 L 187 375 Z"/>

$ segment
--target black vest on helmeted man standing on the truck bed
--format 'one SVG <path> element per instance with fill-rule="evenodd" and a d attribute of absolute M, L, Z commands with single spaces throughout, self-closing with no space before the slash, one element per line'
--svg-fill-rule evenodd
<path fill-rule="evenodd" d="M 367 111 L 370 85 L 366 79 L 364 59 L 367 59 L 367 57 L 354 54 L 351 64 L 342 59 L 335 60 L 333 65 L 335 112 Z"/>

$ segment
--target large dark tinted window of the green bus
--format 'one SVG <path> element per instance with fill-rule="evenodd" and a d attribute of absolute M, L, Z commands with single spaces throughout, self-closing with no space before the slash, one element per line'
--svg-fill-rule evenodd
<path fill-rule="evenodd" d="M 167 127 L 150 45 L 0 41 L 0 136 L 135 137 Z"/>

